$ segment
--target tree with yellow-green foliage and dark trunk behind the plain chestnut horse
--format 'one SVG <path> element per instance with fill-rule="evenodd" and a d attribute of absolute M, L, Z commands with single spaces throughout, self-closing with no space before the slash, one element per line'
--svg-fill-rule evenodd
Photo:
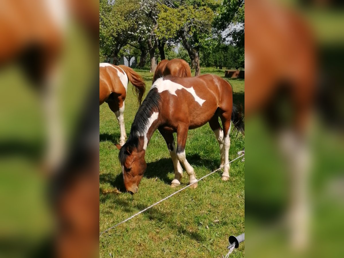
<path fill-rule="evenodd" d="M 218 1 L 180 0 L 167 6 L 160 4 L 158 37 L 179 39 L 190 56 L 195 75 L 200 74 L 199 50 L 204 40 L 211 37 L 212 22 Z"/>

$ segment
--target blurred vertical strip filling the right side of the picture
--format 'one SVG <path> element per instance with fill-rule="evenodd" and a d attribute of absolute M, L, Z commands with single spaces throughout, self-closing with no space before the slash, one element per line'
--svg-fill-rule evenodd
<path fill-rule="evenodd" d="M 342 1 L 245 1 L 245 253 L 343 257 Z"/>

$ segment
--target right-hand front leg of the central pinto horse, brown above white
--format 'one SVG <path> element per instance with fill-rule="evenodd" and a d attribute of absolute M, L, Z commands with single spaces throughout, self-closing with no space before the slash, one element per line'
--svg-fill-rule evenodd
<path fill-rule="evenodd" d="M 191 188 L 197 187 L 196 174 L 193 167 L 187 162 L 185 155 L 185 144 L 189 125 L 181 124 L 177 128 L 177 158 L 183 164 L 186 173 L 189 175 L 189 183 Z"/>

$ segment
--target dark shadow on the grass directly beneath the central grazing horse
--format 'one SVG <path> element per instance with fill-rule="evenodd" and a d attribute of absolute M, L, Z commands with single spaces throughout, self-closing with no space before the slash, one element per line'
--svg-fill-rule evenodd
<path fill-rule="evenodd" d="M 213 171 L 219 167 L 219 164 L 217 164 L 218 162 L 214 163 L 214 160 L 201 158 L 198 154 L 192 154 L 191 156 L 187 156 L 186 159 L 193 167 L 204 166 L 209 171 Z M 147 169 L 146 172 L 144 172 L 144 177 L 147 179 L 159 178 L 165 184 L 171 184 L 171 179 L 168 177 L 168 173 L 174 173 L 173 163 L 170 158 L 163 158 L 157 161 L 147 163 Z M 185 169 L 183 176 L 187 176 Z M 116 187 L 120 192 L 126 192 L 122 173 L 118 173 L 117 175 L 113 175 L 111 173 L 100 174 L 99 182 L 110 183 L 112 187 Z"/>

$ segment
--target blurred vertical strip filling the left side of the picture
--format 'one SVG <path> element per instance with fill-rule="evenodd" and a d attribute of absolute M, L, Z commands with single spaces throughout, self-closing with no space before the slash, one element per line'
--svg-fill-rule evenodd
<path fill-rule="evenodd" d="M 98 256 L 98 5 L 1 2 L 0 257 Z"/>

